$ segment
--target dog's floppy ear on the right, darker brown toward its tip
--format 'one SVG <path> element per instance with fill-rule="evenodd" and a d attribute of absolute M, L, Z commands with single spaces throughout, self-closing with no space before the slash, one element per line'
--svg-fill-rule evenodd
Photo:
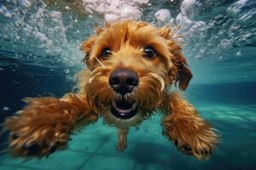
<path fill-rule="evenodd" d="M 175 84 L 178 83 L 179 89 L 185 90 L 193 76 L 188 67 L 187 60 L 181 53 L 182 48 L 177 41 L 179 36 L 174 36 L 176 31 L 169 27 L 161 27 L 158 33 L 161 37 L 166 38 L 167 46 L 172 56 L 173 68 L 169 71 L 170 82 L 175 81 Z"/>

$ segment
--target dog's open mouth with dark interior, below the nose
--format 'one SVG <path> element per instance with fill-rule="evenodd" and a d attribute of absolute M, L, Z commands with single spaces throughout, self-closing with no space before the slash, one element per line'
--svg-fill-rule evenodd
<path fill-rule="evenodd" d="M 125 99 L 119 99 L 112 102 L 111 113 L 120 119 L 130 119 L 136 115 L 137 105 L 134 101 L 129 102 Z"/>

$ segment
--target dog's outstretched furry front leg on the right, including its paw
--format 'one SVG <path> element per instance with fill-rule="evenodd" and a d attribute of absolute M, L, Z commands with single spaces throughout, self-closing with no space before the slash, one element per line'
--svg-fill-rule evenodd
<path fill-rule="evenodd" d="M 168 114 L 162 122 L 163 133 L 187 155 L 197 159 L 211 156 L 218 139 L 213 128 L 179 94 L 170 94 L 166 103 Z"/>

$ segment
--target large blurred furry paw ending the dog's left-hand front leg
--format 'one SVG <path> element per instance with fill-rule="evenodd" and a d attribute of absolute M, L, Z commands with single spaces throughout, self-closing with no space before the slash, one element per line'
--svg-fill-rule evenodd
<path fill-rule="evenodd" d="M 64 103 L 51 98 L 28 102 L 29 105 L 3 123 L 9 132 L 11 155 L 42 157 L 65 148 L 72 126 Z"/>

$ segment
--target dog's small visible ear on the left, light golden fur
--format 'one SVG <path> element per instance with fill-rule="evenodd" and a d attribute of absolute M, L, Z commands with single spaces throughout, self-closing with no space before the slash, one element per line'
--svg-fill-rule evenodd
<path fill-rule="evenodd" d="M 88 60 L 90 57 L 91 49 L 95 43 L 95 40 L 96 40 L 96 37 L 89 37 L 89 39 L 86 40 L 85 42 L 83 42 L 80 47 L 80 50 L 84 51 L 84 53 L 85 53 L 85 57 L 83 59 L 84 64 L 86 64 L 89 68 L 90 68 L 90 65 L 88 63 Z"/>

